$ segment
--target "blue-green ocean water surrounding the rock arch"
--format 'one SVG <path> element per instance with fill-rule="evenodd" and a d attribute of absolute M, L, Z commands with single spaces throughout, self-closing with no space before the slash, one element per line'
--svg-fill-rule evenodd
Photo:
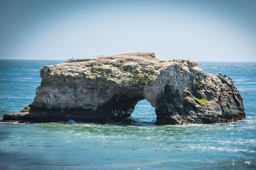
<path fill-rule="evenodd" d="M 61 60 L 0 60 L 0 117 L 35 97 L 39 70 Z M 145 100 L 117 124 L 0 123 L 0 169 L 256 168 L 256 63 L 199 62 L 230 76 L 246 119 L 212 125 L 156 125 Z"/>

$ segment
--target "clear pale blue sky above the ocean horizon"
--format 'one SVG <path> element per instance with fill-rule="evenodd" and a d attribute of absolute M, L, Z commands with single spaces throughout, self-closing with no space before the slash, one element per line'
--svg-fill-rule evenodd
<path fill-rule="evenodd" d="M 0 0 L 0 59 L 256 61 L 256 1 Z"/>

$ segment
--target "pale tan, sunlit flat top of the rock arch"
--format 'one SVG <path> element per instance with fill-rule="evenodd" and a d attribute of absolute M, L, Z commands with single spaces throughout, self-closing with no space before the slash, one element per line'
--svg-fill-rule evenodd
<path fill-rule="evenodd" d="M 153 52 L 100 55 L 88 59 L 69 59 L 55 66 L 41 69 L 42 80 L 47 76 L 72 76 L 88 79 L 106 78 L 115 83 L 152 80 L 166 67 L 180 66 L 182 70 L 202 71 L 195 62 L 189 60 L 159 60 Z M 144 82 L 145 83 L 145 82 Z"/>

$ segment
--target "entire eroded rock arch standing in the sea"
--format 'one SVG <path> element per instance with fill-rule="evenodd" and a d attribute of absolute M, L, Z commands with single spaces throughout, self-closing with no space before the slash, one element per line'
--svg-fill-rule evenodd
<path fill-rule="evenodd" d="M 212 124 L 245 117 L 234 82 L 204 73 L 189 60 L 125 53 L 44 66 L 40 76 L 30 110 L 6 113 L 4 120 L 116 122 L 129 117 L 142 99 L 156 108 L 158 124 Z"/>

